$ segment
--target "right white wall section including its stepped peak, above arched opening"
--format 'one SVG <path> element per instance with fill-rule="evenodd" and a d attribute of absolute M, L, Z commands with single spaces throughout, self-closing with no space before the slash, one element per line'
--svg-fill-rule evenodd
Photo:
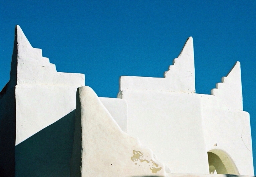
<path fill-rule="evenodd" d="M 196 94 L 202 99 L 207 151 L 223 150 L 234 161 L 241 175 L 254 175 L 250 115 L 242 111 L 240 62 L 236 62 L 216 87 L 212 95 Z"/>

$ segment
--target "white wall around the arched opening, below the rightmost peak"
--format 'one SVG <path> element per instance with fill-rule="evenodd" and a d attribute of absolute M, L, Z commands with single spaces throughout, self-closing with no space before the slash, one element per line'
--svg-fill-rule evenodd
<path fill-rule="evenodd" d="M 203 108 L 202 115 L 207 151 L 223 150 L 234 161 L 239 174 L 253 176 L 249 113 L 240 110 Z"/>

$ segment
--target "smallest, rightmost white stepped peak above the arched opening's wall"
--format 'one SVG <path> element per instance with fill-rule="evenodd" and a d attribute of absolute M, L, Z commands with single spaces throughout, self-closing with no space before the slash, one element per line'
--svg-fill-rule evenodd
<path fill-rule="evenodd" d="M 219 97 L 220 104 L 225 108 L 243 110 L 240 62 L 236 62 L 222 82 L 216 84 L 212 95 Z"/>

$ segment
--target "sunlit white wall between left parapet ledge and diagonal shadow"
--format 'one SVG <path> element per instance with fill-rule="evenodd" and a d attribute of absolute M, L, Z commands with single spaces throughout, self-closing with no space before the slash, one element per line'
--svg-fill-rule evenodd
<path fill-rule="evenodd" d="M 73 111 L 75 97 L 72 86 L 17 85 L 16 145 Z"/>

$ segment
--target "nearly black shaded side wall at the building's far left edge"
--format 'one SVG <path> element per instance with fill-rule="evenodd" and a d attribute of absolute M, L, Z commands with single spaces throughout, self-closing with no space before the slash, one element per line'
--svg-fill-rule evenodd
<path fill-rule="evenodd" d="M 15 176 L 16 101 L 15 87 L 0 99 L 0 176 Z"/>

